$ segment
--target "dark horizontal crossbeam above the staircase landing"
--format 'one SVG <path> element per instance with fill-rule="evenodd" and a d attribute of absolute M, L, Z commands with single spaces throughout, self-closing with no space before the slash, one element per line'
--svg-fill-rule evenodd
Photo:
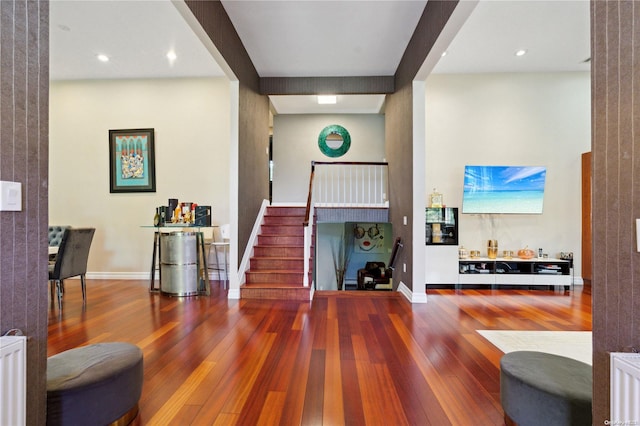
<path fill-rule="evenodd" d="M 393 76 L 379 77 L 262 77 L 263 95 L 331 95 L 393 93 Z"/>

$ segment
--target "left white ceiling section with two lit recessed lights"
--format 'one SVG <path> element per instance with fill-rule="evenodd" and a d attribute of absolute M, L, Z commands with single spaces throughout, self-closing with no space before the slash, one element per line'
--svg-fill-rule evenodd
<path fill-rule="evenodd" d="M 49 26 L 51 80 L 224 75 L 168 0 L 51 0 Z"/>

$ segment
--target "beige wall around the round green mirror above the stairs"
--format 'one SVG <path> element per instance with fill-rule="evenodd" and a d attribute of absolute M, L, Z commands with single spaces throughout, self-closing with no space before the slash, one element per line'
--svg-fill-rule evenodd
<path fill-rule="evenodd" d="M 349 132 L 351 147 L 339 158 L 325 156 L 318 135 L 338 124 Z M 384 161 L 384 115 L 292 114 L 273 118 L 273 202 L 306 203 L 311 161 Z"/>

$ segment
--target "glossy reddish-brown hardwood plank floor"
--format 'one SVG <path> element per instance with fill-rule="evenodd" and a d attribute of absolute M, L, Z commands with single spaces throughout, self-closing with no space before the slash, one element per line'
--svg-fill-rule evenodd
<path fill-rule="evenodd" d="M 502 425 L 502 352 L 478 329 L 591 330 L 590 288 L 316 292 L 313 302 L 150 293 L 68 280 L 49 355 L 106 341 L 144 352 L 135 425 Z"/>

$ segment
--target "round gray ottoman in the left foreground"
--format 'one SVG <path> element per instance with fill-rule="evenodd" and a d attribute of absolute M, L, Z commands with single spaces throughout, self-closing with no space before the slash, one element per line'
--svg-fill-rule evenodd
<path fill-rule="evenodd" d="M 142 351 L 97 343 L 47 359 L 47 425 L 130 423 L 142 393 Z"/>

